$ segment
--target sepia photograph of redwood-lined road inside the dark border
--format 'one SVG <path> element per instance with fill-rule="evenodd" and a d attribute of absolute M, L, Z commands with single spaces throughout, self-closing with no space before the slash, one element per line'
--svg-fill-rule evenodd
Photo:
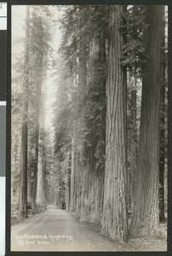
<path fill-rule="evenodd" d="M 166 252 L 168 6 L 11 6 L 11 252 Z"/>

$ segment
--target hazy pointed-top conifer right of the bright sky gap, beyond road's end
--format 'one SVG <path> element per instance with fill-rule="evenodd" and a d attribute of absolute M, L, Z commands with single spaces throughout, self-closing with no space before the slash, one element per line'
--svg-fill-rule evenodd
<path fill-rule="evenodd" d="M 55 162 L 55 204 L 66 210 L 71 201 L 71 144 L 72 144 L 72 79 L 66 61 L 60 57 L 56 61 L 54 83 L 57 84 L 54 102 L 54 162 Z M 63 202 L 63 203 L 62 203 Z"/>

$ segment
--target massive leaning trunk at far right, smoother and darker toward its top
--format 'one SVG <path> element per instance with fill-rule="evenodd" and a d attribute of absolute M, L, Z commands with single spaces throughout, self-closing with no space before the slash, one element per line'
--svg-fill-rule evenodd
<path fill-rule="evenodd" d="M 158 163 L 163 6 L 146 7 L 146 56 L 143 78 L 138 166 L 135 175 L 131 236 L 148 236 L 158 230 Z"/>

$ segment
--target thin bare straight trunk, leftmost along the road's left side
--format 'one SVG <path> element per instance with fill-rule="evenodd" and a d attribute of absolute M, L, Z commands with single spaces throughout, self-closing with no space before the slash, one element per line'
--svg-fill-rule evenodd
<path fill-rule="evenodd" d="M 27 136 L 28 136 L 28 84 L 29 84 L 29 21 L 30 7 L 26 6 L 25 80 L 23 87 L 23 117 L 21 136 L 19 217 L 27 218 Z"/>

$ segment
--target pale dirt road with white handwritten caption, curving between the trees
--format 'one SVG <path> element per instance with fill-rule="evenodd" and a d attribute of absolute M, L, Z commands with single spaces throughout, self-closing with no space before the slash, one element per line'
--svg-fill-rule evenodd
<path fill-rule="evenodd" d="M 12 251 L 109 251 L 112 241 L 95 224 L 80 223 L 73 212 L 49 206 L 46 212 L 11 229 Z M 102 242 L 104 247 L 102 247 Z M 110 243 L 110 244 L 109 244 Z"/>

